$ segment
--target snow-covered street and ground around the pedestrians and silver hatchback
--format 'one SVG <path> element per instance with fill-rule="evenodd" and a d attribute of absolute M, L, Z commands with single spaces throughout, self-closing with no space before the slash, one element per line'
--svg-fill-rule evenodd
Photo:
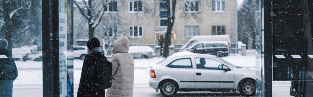
<path fill-rule="evenodd" d="M 134 97 L 162 97 L 160 92 L 157 92 L 149 87 L 149 65 L 156 63 L 164 58 L 150 59 L 135 59 L 135 74 L 134 74 Z M 246 56 L 240 54 L 230 54 L 223 57 L 224 60 L 238 66 L 254 68 L 255 67 L 255 51 L 248 50 Z M 83 61 L 74 60 L 74 97 L 77 93 L 77 88 L 80 80 L 81 68 Z M 42 97 L 42 62 L 16 61 L 19 76 L 14 81 L 13 97 Z M 274 81 L 273 94 L 274 97 L 288 97 L 290 81 Z M 223 93 L 224 94 L 224 93 Z M 221 96 L 221 93 L 211 92 L 179 92 L 179 96 L 196 97 L 196 96 Z M 237 94 L 226 94 L 224 96 L 238 96 Z"/>

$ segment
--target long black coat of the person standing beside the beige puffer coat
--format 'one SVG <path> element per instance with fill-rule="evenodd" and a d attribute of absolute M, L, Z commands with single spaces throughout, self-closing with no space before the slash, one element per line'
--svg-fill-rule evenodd
<path fill-rule="evenodd" d="M 95 82 L 99 80 L 95 76 L 95 61 L 102 58 L 108 61 L 107 58 L 101 54 L 101 52 L 86 55 L 83 63 L 77 97 L 105 97 L 105 89 L 95 88 Z"/>

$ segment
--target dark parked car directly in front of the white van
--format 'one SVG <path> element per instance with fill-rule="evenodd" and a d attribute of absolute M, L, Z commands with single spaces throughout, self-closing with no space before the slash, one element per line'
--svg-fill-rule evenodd
<path fill-rule="evenodd" d="M 229 47 L 226 41 L 201 41 L 195 43 L 184 51 L 193 53 L 212 54 L 218 57 L 228 56 Z"/>

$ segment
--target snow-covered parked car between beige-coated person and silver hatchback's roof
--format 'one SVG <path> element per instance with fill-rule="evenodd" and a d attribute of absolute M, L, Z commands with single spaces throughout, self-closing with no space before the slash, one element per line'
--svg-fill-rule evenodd
<path fill-rule="evenodd" d="M 154 49 L 149 46 L 130 46 L 128 53 L 131 54 L 134 59 L 151 58 L 156 56 Z"/>

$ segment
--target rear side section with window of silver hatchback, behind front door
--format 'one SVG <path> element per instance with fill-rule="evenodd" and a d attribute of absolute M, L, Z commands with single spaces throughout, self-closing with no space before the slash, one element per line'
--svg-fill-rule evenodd
<path fill-rule="evenodd" d="M 191 58 L 179 58 L 167 65 L 167 75 L 176 79 L 179 88 L 196 88 L 194 81 L 194 68 L 192 66 Z"/>

